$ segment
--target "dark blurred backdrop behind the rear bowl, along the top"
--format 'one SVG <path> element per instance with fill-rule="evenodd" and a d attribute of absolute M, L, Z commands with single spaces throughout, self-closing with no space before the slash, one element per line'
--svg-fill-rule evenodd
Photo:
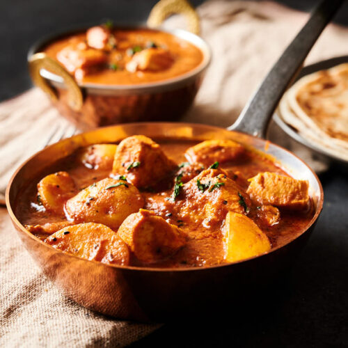
<path fill-rule="evenodd" d="M 204 0 L 191 0 L 194 6 Z M 310 10 L 316 0 L 279 1 L 300 10 Z M 145 22 L 157 0 L 0 0 L 0 101 L 31 86 L 26 53 L 42 35 L 70 26 L 115 22 Z M 348 24 L 348 2 L 335 22 Z"/>

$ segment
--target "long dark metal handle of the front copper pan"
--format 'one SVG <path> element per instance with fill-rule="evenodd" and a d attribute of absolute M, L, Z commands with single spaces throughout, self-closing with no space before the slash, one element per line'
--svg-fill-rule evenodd
<path fill-rule="evenodd" d="M 239 118 L 228 127 L 229 130 L 266 137 L 269 122 L 280 98 L 301 70 L 310 49 L 342 2 L 343 0 L 324 0 L 313 10 L 308 22 L 271 68 L 255 94 L 244 106 Z"/>

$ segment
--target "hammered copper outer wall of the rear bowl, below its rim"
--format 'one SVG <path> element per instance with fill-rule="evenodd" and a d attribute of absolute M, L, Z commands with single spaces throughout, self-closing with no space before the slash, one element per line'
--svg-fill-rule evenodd
<path fill-rule="evenodd" d="M 118 123 L 173 121 L 189 109 L 199 86 L 200 78 L 180 88 L 159 93 L 88 94 L 79 111 L 70 108 L 67 90 L 57 88 L 58 100 L 52 103 L 61 115 L 84 130 Z"/>

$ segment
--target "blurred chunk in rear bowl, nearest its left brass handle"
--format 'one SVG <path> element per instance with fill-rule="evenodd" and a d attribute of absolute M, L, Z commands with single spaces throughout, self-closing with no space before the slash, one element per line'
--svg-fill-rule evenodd
<path fill-rule="evenodd" d="M 57 59 L 68 72 L 78 71 L 78 76 L 88 74 L 95 65 L 102 65 L 107 61 L 107 54 L 98 49 L 84 46 L 84 42 L 72 43 L 57 53 Z"/>

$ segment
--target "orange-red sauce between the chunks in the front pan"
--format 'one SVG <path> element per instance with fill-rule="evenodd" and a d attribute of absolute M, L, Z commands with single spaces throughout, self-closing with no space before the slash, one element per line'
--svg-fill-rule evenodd
<path fill-rule="evenodd" d="M 157 139 L 155 139 L 156 141 Z M 157 141 L 164 153 L 173 159 L 177 164 L 186 162 L 184 152 L 187 148 L 196 145 L 193 141 Z M 216 159 L 218 160 L 218 159 Z M 279 166 L 271 159 L 260 155 L 260 153 L 246 150 L 243 157 L 235 161 L 229 161 L 219 164 L 219 168 L 230 170 L 238 173 L 240 187 L 244 189 L 244 194 L 248 188 L 248 181 L 245 179 L 254 177 L 260 172 L 273 172 L 281 175 L 287 175 Z M 66 221 L 67 218 L 62 214 L 54 214 L 41 209 L 37 200 L 37 184 L 45 177 L 45 175 L 55 173 L 57 171 L 68 172 L 74 182 L 77 184 L 77 189 L 82 190 L 94 182 L 109 177 L 111 168 L 101 170 L 100 168 L 87 168 L 79 161 L 77 154 L 59 161 L 50 168 L 47 168 L 45 173 L 33 180 L 28 187 L 17 198 L 16 215 L 19 221 L 24 225 L 43 225 L 44 223 L 54 223 L 57 221 Z M 156 171 L 156 168 L 153 168 Z M 179 169 L 178 169 L 179 171 Z M 163 258 L 159 262 L 148 264 L 137 260 L 131 253 L 130 265 L 134 266 L 150 266 L 150 267 L 202 267 L 212 264 L 221 264 L 224 260 L 225 247 L 223 245 L 222 226 L 224 219 L 221 219 L 219 225 L 203 226 L 202 221 L 197 219 L 189 219 L 187 216 L 182 216 L 180 213 L 180 204 L 182 197 L 179 195 L 175 202 L 171 201 L 173 197 L 173 186 L 175 175 L 166 180 L 166 182 L 151 190 L 140 189 L 141 195 L 145 199 L 144 209 L 152 210 L 158 216 L 163 217 L 168 223 L 178 226 L 184 234 L 187 242 L 179 250 L 172 255 Z M 288 175 L 287 175 L 288 176 Z M 193 178 L 195 180 L 196 178 Z M 194 182 L 194 183 L 195 183 Z M 216 191 L 221 188 L 217 188 Z M 203 209 L 203 207 L 202 207 Z M 280 221 L 274 226 L 266 226 L 258 219 L 257 204 L 249 207 L 248 217 L 258 224 L 259 228 L 267 235 L 271 248 L 276 248 L 287 244 L 292 239 L 295 239 L 303 230 L 306 229 L 310 219 L 313 218 L 314 209 L 313 203 L 310 202 L 308 209 L 302 210 L 280 210 Z M 117 232 L 117 230 L 115 231 Z M 48 237 L 47 234 L 35 233 L 36 237 L 44 240 Z"/>

